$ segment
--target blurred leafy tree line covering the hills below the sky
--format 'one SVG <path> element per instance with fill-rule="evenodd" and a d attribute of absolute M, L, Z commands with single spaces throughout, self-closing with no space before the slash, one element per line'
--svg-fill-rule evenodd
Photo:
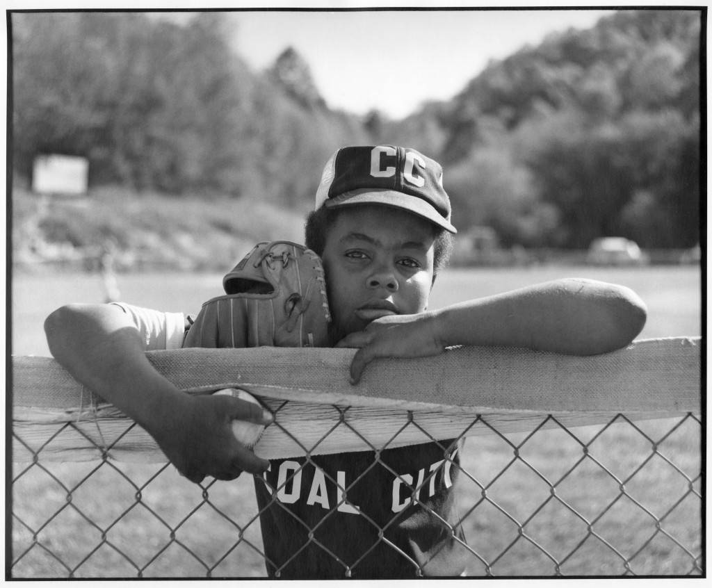
<path fill-rule="evenodd" d="M 492 226 L 505 244 L 700 238 L 699 10 L 624 10 L 555 33 L 404 120 L 330 109 L 293 50 L 252 72 L 219 13 L 12 25 L 19 177 L 37 154 L 78 154 L 93 185 L 305 209 L 337 147 L 387 142 L 439 160 L 456 226 Z"/>

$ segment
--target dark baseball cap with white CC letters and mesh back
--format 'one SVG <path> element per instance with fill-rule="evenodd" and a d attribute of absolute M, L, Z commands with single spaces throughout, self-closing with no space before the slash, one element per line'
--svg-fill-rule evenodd
<path fill-rule="evenodd" d="M 333 154 L 316 191 L 316 209 L 383 204 L 422 216 L 451 233 L 450 199 L 434 159 L 393 145 L 342 147 Z"/>

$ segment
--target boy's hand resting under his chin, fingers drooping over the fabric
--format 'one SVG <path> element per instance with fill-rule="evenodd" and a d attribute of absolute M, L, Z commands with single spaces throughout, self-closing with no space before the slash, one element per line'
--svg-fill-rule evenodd
<path fill-rule="evenodd" d="M 376 357 L 427 357 L 444 350 L 433 313 L 377 318 L 335 347 L 360 347 L 351 362 L 351 384 L 358 384 L 366 364 Z"/>

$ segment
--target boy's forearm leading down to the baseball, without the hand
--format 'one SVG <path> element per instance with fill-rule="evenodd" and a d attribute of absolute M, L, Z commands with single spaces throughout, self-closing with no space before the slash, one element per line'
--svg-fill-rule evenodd
<path fill-rule="evenodd" d="M 81 384 L 117 406 L 151 434 L 185 400 L 145 357 L 140 336 L 112 305 L 68 305 L 45 321 L 52 355 Z"/>

